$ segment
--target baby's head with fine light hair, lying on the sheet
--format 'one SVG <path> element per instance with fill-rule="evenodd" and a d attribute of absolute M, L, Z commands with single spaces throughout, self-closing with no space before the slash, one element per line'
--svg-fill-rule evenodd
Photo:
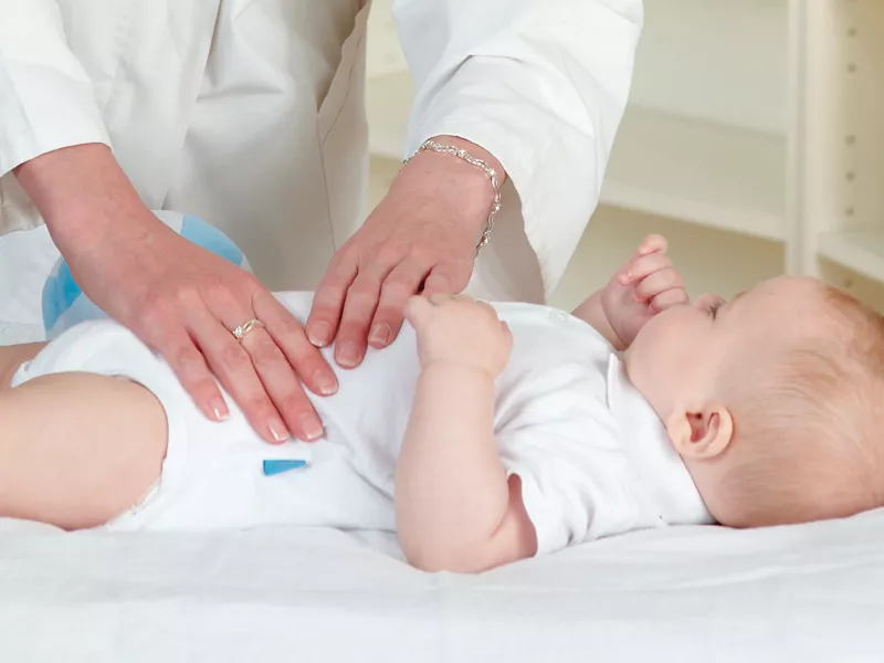
<path fill-rule="evenodd" d="M 627 370 L 722 524 L 760 527 L 884 505 L 884 322 L 811 278 L 651 319 Z"/>

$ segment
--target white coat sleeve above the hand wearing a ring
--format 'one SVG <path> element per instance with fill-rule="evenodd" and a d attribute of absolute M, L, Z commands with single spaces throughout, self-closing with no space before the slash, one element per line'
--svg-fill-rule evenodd
<path fill-rule="evenodd" d="M 57 3 L 0 0 L 0 177 L 42 154 L 86 143 L 110 140 Z"/>

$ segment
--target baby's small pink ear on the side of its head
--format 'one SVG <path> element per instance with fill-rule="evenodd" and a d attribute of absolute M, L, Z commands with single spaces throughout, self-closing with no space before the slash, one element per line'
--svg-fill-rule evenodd
<path fill-rule="evenodd" d="M 713 459 L 734 438 L 734 418 L 720 403 L 699 408 L 676 408 L 666 421 L 675 451 L 684 459 Z"/>

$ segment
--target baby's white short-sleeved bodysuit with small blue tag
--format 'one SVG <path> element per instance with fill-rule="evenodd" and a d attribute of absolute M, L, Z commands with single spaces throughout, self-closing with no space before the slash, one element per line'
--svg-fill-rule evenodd
<path fill-rule="evenodd" d="M 280 301 L 299 318 L 309 293 Z M 656 414 L 629 382 L 607 341 L 560 311 L 497 304 L 513 333 L 496 382 L 501 457 L 520 476 L 538 554 L 632 529 L 711 523 Z M 332 349 L 324 352 L 334 366 Z M 419 375 L 414 332 L 355 370 L 338 370 L 338 393 L 311 399 L 326 427 L 314 443 L 264 443 L 228 398 L 231 418 L 207 420 L 168 366 L 110 320 L 81 324 L 19 369 L 38 376 L 87 371 L 128 378 L 162 403 L 169 429 L 161 477 L 114 530 L 208 530 L 263 525 L 394 529 L 396 459 Z M 125 435 L 125 431 L 120 431 Z M 308 465 L 265 476 L 262 461 Z"/>

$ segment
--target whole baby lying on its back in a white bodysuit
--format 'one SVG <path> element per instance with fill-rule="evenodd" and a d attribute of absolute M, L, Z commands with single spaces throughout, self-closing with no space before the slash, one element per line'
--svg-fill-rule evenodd
<path fill-rule="evenodd" d="M 653 235 L 572 316 L 432 296 L 407 318 L 312 397 L 314 444 L 264 444 L 235 408 L 208 421 L 110 320 L 0 348 L 0 516 L 388 529 L 414 566 L 469 572 L 639 528 L 884 503 L 884 323 L 818 281 L 690 304 Z"/>

